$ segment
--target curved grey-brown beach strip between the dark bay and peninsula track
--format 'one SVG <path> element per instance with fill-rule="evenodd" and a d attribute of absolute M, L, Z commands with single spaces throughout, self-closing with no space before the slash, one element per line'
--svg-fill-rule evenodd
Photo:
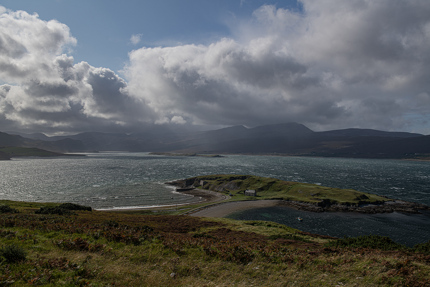
<path fill-rule="evenodd" d="M 190 216 L 201 216 L 201 217 L 223 217 L 228 213 L 232 213 L 237 210 L 243 210 L 247 208 L 255 207 L 272 207 L 282 204 L 279 200 L 256 200 L 256 201 L 236 201 L 224 204 L 218 204 L 213 207 L 208 207 L 203 210 L 199 210 Z"/>

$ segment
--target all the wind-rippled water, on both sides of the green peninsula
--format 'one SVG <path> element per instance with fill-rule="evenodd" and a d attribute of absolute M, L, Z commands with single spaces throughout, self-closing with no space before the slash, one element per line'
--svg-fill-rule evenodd
<path fill-rule="evenodd" d="M 175 193 L 163 182 L 230 173 L 353 188 L 430 205 L 429 162 L 244 155 L 168 157 L 129 152 L 0 161 L 0 199 L 74 202 L 98 209 L 180 204 L 198 198 Z M 387 235 L 389 230 L 397 230 L 393 235 L 398 234 L 399 238 L 410 237 L 414 242 L 430 239 L 430 231 L 423 231 L 430 229 L 424 225 L 429 222 L 427 214 L 307 213 L 286 207 L 246 210 L 240 214 L 246 219 L 270 220 L 332 236 L 371 232 Z M 290 222 L 297 216 L 306 220 Z M 411 222 L 420 222 L 417 229 L 410 230 Z M 421 239 L 412 234 L 421 234 Z"/>

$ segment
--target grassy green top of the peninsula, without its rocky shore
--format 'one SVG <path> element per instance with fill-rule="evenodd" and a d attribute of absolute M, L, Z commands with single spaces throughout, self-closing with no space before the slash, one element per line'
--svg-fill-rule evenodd
<path fill-rule="evenodd" d="M 285 200 L 303 201 L 312 204 L 329 203 L 342 205 L 375 204 L 384 201 L 391 201 L 390 199 L 383 198 L 375 194 L 356 191 L 353 189 L 330 188 L 310 183 L 286 182 L 270 177 L 250 175 L 197 176 L 188 179 L 188 182 L 193 182 L 194 185 L 199 185 L 200 180 L 208 182 L 203 188 L 218 191 L 225 189 L 226 193 L 231 192 L 236 194 L 238 191 L 244 191 L 245 189 L 254 189 L 257 191 L 258 199 L 283 198 Z M 232 183 L 237 187 L 234 187 Z M 235 199 L 238 200 L 243 198 L 249 199 L 252 197 L 241 196 L 240 198 Z"/>

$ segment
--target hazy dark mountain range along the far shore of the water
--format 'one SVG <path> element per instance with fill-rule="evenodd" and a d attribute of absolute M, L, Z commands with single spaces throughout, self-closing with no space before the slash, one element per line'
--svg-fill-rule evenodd
<path fill-rule="evenodd" d="M 0 132 L 0 145 L 43 148 L 56 152 L 147 151 L 221 154 L 279 154 L 323 157 L 428 157 L 430 135 L 344 129 L 314 132 L 300 123 L 281 123 L 248 129 L 227 127 L 192 133 L 99 133 L 46 136 Z"/>

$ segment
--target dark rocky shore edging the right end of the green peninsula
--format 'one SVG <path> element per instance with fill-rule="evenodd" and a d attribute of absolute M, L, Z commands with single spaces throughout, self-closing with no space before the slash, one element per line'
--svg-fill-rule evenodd
<path fill-rule="evenodd" d="M 310 204 L 307 202 L 301 201 L 282 201 L 282 205 L 289 206 L 295 208 L 297 210 L 305 210 L 312 212 L 325 212 L 325 211 L 341 211 L 341 212 L 358 212 L 358 213 L 392 213 L 394 211 L 397 212 L 405 212 L 405 213 L 414 213 L 414 214 L 423 214 L 419 210 L 430 210 L 430 207 L 425 204 L 419 204 L 415 202 L 408 202 L 402 200 L 393 200 L 386 201 L 381 204 L 365 204 L 359 206 L 347 206 L 341 204 L 332 204 L 326 206 L 318 206 L 316 204 Z"/>

